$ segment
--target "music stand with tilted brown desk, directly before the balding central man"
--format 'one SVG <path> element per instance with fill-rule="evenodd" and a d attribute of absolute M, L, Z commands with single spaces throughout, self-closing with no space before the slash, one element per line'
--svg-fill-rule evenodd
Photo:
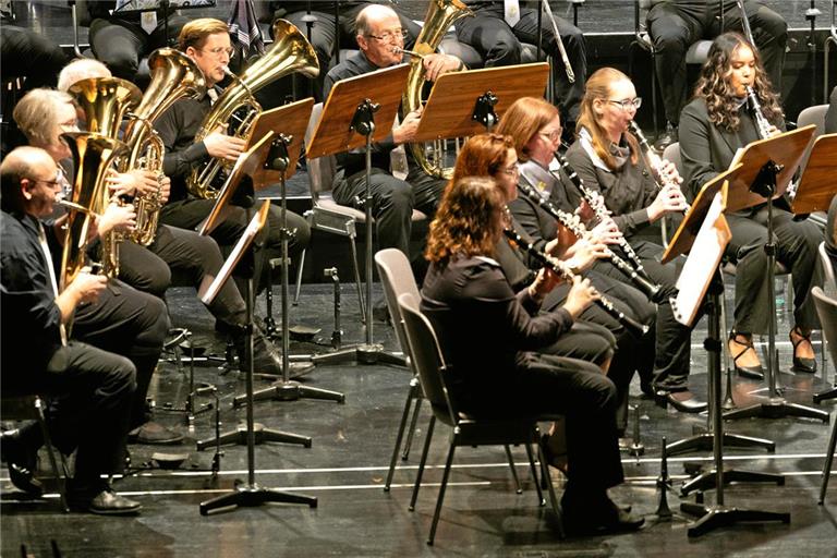
<path fill-rule="evenodd" d="M 372 319 L 372 143 L 391 133 L 401 93 L 410 71 L 408 64 L 399 64 L 337 82 L 328 95 L 323 116 L 306 147 L 310 159 L 348 151 L 365 146 L 366 154 L 366 315 L 365 343 L 341 349 L 332 353 L 318 354 L 314 364 L 335 364 L 354 360 L 363 364 L 396 364 L 403 366 L 403 356 L 388 353 L 384 345 L 374 342 Z M 376 126 L 376 121 L 381 128 Z"/>

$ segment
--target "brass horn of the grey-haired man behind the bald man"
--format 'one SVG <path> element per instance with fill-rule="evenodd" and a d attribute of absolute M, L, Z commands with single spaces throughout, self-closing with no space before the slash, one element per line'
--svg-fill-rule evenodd
<path fill-rule="evenodd" d="M 88 77 L 74 83 L 69 93 L 84 111 L 87 132 L 118 141 L 119 131 L 128 112 L 142 99 L 140 89 L 132 83 L 119 77 Z M 76 166 L 76 178 L 78 167 Z M 105 177 L 102 175 L 102 180 Z M 73 187 L 76 187 L 76 180 Z M 107 187 L 96 190 L 101 198 L 95 202 L 96 213 L 104 214 L 111 202 Z M 119 202 L 121 203 L 121 202 Z M 81 204 L 84 205 L 84 204 Z M 109 231 L 101 236 L 101 265 L 108 277 L 119 275 L 119 244 L 125 234 Z"/>

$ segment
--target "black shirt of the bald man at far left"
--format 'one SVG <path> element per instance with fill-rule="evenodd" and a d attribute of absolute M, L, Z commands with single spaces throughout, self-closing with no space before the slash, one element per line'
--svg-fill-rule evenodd
<path fill-rule="evenodd" d="M 21 213 L 0 211 L 0 328 L 2 369 L 43 369 L 61 347 L 61 311 L 38 240 L 39 222 Z M 54 258 L 60 245 L 45 228 Z M 25 364 L 25 368 L 21 368 Z"/>

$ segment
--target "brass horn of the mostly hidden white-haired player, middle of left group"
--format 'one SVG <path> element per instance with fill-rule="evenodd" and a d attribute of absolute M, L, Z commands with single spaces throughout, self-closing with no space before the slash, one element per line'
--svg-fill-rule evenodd
<path fill-rule="evenodd" d="M 123 136 L 130 153 L 117 162 L 120 172 L 148 170 L 157 175 L 156 193 L 138 193 L 134 197 L 136 227 L 131 240 L 143 246 L 154 242 L 162 202 L 159 183 L 163 179 L 162 158 L 166 147 L 154 129 L 154 121 L 177 100 L 199 97 L 206 92 L 204 73 L 191 58 L 173 48 L 160 48 L 148 57 L 151 83 L 140 106 L 129 116 L 131 120 Z"/>

